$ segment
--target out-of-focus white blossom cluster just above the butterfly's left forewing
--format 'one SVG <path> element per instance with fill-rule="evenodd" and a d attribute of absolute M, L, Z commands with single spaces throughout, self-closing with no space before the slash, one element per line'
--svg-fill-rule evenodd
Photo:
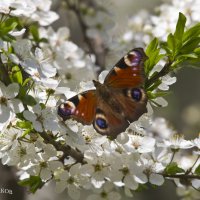
<path fill-rule="evenodd" d="M 49 40 L 48 44 L 42 45 L 42 49 L 51 52 L 52 66 L 57 69 L 61 78 L 60 86 L 75 89 L 80 81 L 95 78 L 91 57 L 69 40 L 70 33 L 67 28 L 60 28 L 57 32 L 52 28 L 43 28 L 40 29 L 40 33 L 43 38 Z"/>

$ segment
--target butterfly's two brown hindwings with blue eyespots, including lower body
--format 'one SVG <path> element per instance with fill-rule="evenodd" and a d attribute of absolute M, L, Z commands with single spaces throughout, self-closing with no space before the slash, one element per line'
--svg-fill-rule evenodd
<path fill-rule="evenodd" d="M 93 126 L 102 135 L 115 139 L 145 112 L 147 98 L 142 88 L 110 90 L 112 99 L 99 99 Z"/>

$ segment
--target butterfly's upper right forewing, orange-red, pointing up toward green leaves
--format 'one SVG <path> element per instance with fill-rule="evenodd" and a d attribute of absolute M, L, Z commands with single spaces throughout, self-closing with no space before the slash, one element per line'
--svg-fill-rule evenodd
<path fill-rule="evenodd" d="M 104 84 L 114 88 L 141 86 L 145 81 L 144 61 L 147 56 L 142 48 L 135 48 L 121 58 L 104 80 Z"/>

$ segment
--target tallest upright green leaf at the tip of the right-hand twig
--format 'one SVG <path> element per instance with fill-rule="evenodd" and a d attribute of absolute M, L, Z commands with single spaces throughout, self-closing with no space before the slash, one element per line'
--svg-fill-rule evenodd
<path fill-rule="evenodd" d="M 179 13 L 178 22 L 176 24 L 176 30 L 174 33 L 174 38 L 176 40 L 182 41 L 183 33 L 185 29 L 186 17 L 182 13 Z"/>

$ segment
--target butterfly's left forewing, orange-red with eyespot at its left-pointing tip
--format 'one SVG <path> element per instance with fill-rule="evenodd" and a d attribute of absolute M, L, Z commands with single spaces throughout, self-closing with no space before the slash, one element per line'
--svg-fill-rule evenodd
<path fill-rule="evenodd" d="M 88 90 L 60 104 L 58 107 L 58 115 L 63 120 L 72 118 L 84 125 L 89 125 L 93 122 L 96 104 L 96 91 Z"/>

